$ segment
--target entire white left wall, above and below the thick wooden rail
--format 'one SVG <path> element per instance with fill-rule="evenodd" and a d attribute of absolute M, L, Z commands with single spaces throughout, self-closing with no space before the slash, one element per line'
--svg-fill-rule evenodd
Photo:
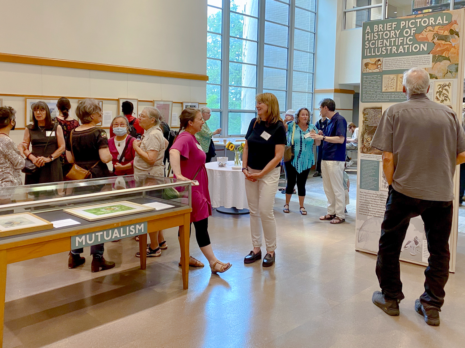
<path fill-rule="evenodd" d="M 0 52 L 206 74 L 205 0 L 3 1 L 2 13 Z M 0 93 L 205 103 L 206 82 L 0 62 Z M 24 127 L 25 98 L 0 98 Z"/>

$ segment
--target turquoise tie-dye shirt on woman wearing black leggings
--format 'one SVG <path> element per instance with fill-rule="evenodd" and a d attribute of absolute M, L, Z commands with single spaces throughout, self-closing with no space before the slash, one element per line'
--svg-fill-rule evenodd
<path fill-rule="evenodd" d="M 315 163 L 313 156 L 313 139 L 311 137 L 304 138 L 312 129 L 318 133 L 318 129 L 310 123 L 308 129 L 303 131 L 294 121 L 287 122 L 287 145 L 291 145 L 292 128 L 295 124 L 294 132 L 294 159 L 292 167 L 297 170 L 297 173 L 302 173 L 304 170 L 312 167 Z"/>

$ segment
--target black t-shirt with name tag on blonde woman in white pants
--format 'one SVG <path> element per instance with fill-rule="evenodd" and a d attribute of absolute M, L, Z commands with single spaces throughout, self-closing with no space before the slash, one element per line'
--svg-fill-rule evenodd
<path fill-rule="evenodd" d="M 256 120 L 254 118 L 250 121 L 246 134 L 248 146 L 247 166 L 252 169 L 262 170 L 274 158 L 275 145 L 286 145 L 286 129 L 281 121 L 266 127 L 265 121 L 255 123 Z M 255 127 L 253 127 L 254 124 Z M 266 134 L 271 136 L 268 138 Z M 265 138 L 268 138 L 268 140 Z M 278 163 L 276 167 L 279 166 Z"/>

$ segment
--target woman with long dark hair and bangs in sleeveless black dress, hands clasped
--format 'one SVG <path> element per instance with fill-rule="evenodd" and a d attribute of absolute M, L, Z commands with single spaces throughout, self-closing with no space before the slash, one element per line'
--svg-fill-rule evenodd
<path fill-rule="evenodd" d="M 29 151 L 31 144 L 32 151 Z M 45 102 L 40 101 L 33 105 L 33 124 L 24 129 L 24 139 L 18 148 L 39 167 L 34 173 L 26 174 L 25 185 L 63 181 L 59 160 L 65 151 L 63 129 L 52 121 L 50 109 Z"/>

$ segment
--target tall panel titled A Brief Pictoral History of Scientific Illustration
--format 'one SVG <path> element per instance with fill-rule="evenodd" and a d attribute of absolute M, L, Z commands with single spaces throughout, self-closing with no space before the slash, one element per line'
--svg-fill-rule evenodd
<path fill-rule="evenodd" d="M 430 76 L 430 100 L 462 113 L 464 76 L 464 10 L 364 22 L 360 78 L 359 152 L 355 249 L 376 254 L 388 196 L 382 152 L 371 146 L 383 112 L 406 101 L 403 73 L 424 68 Z M 432 170 L 434 170 L 432 168 Z M 458 233 L 458 175 L 454 176 L 454 213 L 449 239 L 455 271 Z M 420 217 L 411 219 L 400 259 L 428 264 L 425 228 Z"/>

